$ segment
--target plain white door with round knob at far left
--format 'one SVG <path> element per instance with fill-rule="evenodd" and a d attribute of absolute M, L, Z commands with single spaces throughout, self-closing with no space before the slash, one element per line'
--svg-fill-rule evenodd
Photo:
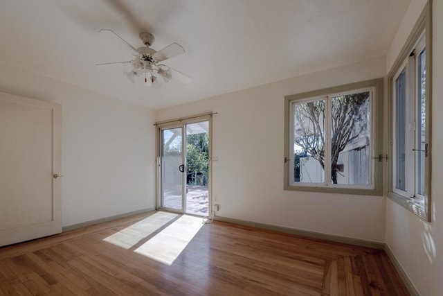
<path fill-rule="evenodd" d="M 62 232 L 62 106 L 0 93 L 0 246 Z"/>

